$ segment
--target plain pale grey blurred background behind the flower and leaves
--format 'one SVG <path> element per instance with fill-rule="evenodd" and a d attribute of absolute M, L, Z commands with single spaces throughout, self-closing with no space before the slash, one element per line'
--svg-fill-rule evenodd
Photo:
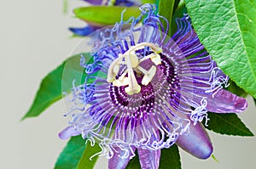
<path fill-rule="evenodd" d="M 62 101 L 44 111 L 38 118 L 20 121 L 29 109 L 40 81 L 60 65 L 80 41 L 70 38 L 68 26 L 84 26 L 73 19 L 72 8 L 84 5 L 68 1 L 63 14 L 63 0 L 3 1 L 0 5 L 0 168 L 50 169 L 67 143 L 58 132 L 67 126 Z M 252 98 L 239 116 L 256 134 L 256 112 Z M 256 166 L 256 137 L 242 138 L 209 132 L 218 162 L 201 161 L 181 150 L 183 169 L 239 169 Z M 107 168 L 100 158 L 96 169 Z"/>

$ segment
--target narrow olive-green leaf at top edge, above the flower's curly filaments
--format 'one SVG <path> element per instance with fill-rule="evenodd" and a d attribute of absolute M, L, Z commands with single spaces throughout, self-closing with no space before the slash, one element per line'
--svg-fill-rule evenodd
<path fill-rule="evenodd" d="M 161 0 L 159 3 L 159 14 L 164 16 L 169 21 L 169 30 L 167 35 L 171 36 L 171 28 L 172 28 L 172 12 L 174 7 L 175 0 Z M 160 19 L 163 23 L 163 26 L 166 28 L 167 23 L 165 20 Z"/>

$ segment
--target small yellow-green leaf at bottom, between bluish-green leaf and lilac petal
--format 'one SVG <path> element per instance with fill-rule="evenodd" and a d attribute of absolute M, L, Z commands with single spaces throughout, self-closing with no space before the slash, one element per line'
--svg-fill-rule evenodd
<path fill-rule="evenodd" d="M 87 143 L 86 149 L 84 150 L 84 154 L 79 161 L 79 165 L 77 166 L 77 169 L 84 169 L 84 168 L 93 169 L 98 159 L 98 155 L 96 154 L 101 151 L 102 149 L 98 144 L 94 144 L 94 146 L 90 146 L 90 143 Z M 90 159 L 90 157 L 92 158 Z"/>

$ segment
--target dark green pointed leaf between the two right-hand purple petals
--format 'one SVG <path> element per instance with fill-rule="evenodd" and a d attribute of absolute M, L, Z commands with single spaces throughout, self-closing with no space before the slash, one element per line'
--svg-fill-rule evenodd
<path fill-rule="evenodd" d="M 208 112 L 208 118 L 210 121 L 207 122 L 205 127 L 213 132 L 234 136 L 253 136 L 253 132 L 243 124 L 235 113 L 217 114 Z M 205 121 L 203 121 L 203 124 L 205 124 Z"/>

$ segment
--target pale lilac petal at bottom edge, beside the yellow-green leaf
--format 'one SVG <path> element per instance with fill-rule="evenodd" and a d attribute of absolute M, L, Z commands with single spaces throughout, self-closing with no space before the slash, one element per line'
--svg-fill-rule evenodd
<path fill-rule="evenodd" d="M 117 152 L 113 150 L 113 157 L 108 160 L 108 168 L 109 169 L 125 169 L 125 166 L 127 166 L 128 162 L 131 160 L 130 159 L 131 155 L 134 154 L 135 147 L 133 147 L 132 149 L 127 148 L 127 149 L 130 149 L 130 152 L 129 152 L 130 155 L 128 157 L 124 157 L 125 155 L 124 150 L 118 147 L 114 147 L 114 149 L 117 150 Z M 133 152 L 131 152 L 131 150 Z"/>

